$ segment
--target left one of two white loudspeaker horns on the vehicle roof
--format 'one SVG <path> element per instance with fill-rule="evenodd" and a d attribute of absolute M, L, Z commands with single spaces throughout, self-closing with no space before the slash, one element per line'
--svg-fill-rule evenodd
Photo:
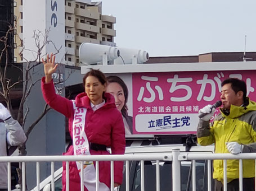
<path fill-rule="evenodd" d="M 119 48 L 101 44 L 82 43 L 79 48 L 80 63 L 95 64 L 102 62 L 107 65 L 107 61 L 119 57 Z"/>

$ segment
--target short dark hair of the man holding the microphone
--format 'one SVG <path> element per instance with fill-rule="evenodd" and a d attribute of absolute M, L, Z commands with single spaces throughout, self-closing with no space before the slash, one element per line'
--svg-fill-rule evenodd
<path fill-rule="evenodd" d="M 223 87 L 227 83 L 231 83 L 231 88 L 233 91 L 235 91 L 236 94 L 237 92 L 242 91 L 244 93 L 244 101 L 246 100 L 247 90 L 246 83 L 244 81 L 237 78 L 227 78 L 221 83 L 221 87 Z"/>

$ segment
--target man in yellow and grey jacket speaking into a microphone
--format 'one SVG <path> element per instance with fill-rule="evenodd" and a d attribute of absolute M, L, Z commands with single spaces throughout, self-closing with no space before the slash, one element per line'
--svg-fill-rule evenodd
<path fill-rule="evenodd" d="M 236 78 L 222 82 L 223 108 L 210 123 L 215 108 L 206 105 L 197 127 L 197 141 L 206 146 L 215 144 L 215 153 L 256 152 L 256 103 L 246 97 L 246 83 Z M 243 160 L 243 190 L 255 190 L 254 160 Z M 223 160 L 213 162 L 214 190 L 223 190 Z M 239 160 L 227 160 L 227 190 L 239 190 Z"/>

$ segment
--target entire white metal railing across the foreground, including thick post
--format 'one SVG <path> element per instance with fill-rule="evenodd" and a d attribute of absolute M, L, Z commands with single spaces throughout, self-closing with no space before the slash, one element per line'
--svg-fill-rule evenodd
<path fill-rule="evenodd" d="M 239 160 L 239 189 L 242 191 L 242 160 L 253 159 L 256 160 L 256 153 L 241 153 L 238 155 L 232 154 L 221 154 L 221 153 L 182 153 L 179 148 L 174 148 L 172 153 L 149 153 L 149 154 L 136 154 L 136 155 L 91 155 L 91 156 L 19 156 L 19 157 L 0 157 L 0 162 L 7 162 L 7 173 L 8 173 L 8 191 L 11 190 L 11 162 L 22 162 L 22 167 L 25 169 L 26 162 L 36 162 L 37 171 L 37 190 L 39 191 L 40 183 L 40 167 L 39 162 L 51 162 L 51 190 L 54 190 L 54 162 L 66 161 L 66 190 L 69 191 L 69 162 L 70 161 L 96 161 L 96 191 L 99 190 L 99 174 L 98 174 L 98 162 L 99 161 L 111 161 L 111 191 L 114 190 L 114 161 L 125 161 L 126 169 L 126 180 L 125 189 L 128 191 L 129 188 L 129 161 L 140 161 L 141 162 L 141 191 L 145 191 L 145 173 L 144 173 L 144 161 L 156 161 L 156 191 L 160 191 L 160 167 L 159 161 L 172 161 L 172 187 L 175 191 L 181 191 L 181 161 L 192 161 L 192 190 L 196 190 L 196 160 L 207 160 L 208 161 L 208 172 L 207 172 L 207 183 L 208 191 L 211 191 L 212 186 L 212 160 L 223 160 L 224 167 L 224 191 L 227 190 L 227 160 L 236 159 Z M 81 165 L 83 163 L 81 162 Z M 256 169 L 256 165 L 255 165 Z M 83 176 L 83 167 L 81 166 L 81 174 Z M 256 170 L 255 170 L 256 172 Z M 23 187 L 25 191 L 25 170 L 22 173 Z M 83 178 L 81 178 L 81 190 L 84 189 Z M 170 180 L 171 181 L 171 180 Z"/>

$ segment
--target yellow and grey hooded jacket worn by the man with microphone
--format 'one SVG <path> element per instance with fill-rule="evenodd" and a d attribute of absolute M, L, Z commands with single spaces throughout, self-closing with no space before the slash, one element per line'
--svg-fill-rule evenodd
<path fill-rule="evenodd" d="M 256 103 L 246 98 L 246 106 L 231 105 L 230 113 L 221 108 L 212 123 L 200 120 L 197 141 L 200 145 L 215 143 L 215 153 L 230 153 L 226 142 L 244 145 L 243 153 L 256 152 Z M 254 160 L 243 160 L 243 177 L 255 176 Z M 223 160 L 214 160 L 213 178 L 223 182 Z M 227 182 L 239 178 L 239 160 L 227 160 Z"/>

